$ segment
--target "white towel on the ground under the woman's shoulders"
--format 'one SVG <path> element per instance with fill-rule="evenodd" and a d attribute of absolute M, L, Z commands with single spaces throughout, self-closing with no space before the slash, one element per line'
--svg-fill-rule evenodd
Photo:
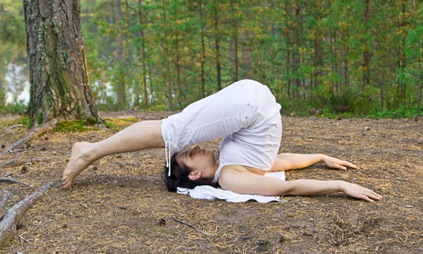
<path fill-rule="evenodd" d="M 285 180 L 285 171 L 268 172 L 264 174 L 264 176 Z M 177 193 L 190 195 L 191 198 L 207 200 L 221 199 L 228 202 L 246 202 L 248 200 L 255 200 L 257 202 L 265 203 L 279 201 L 278 196 L 240 194 L 234 193 L 233 191 L 223 190 L 221 188 L 214 188 L 212 186 L 197 186 L 193 189 L 178 187 Z"/>

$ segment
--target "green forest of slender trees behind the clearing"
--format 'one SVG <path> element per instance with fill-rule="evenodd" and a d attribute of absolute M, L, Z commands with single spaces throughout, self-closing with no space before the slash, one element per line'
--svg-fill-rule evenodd
<path fill-rule="evenodd" d="M 284 114 L 421 114 L 421 1 L 80 4 L 99 110 L 182 109 L 252 78 L 269 85 Z M 27 80 L 23 2 L 0 0 L 0 113 L 25 110 Z"/>

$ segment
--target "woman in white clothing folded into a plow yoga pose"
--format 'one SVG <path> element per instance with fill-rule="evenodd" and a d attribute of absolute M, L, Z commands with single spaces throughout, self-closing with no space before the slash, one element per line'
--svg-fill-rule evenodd
<path fill-rule="evenodd" d="M 169 191 L 209 184 L 245 194 L 321 195 L 343 191 L 370 202 L 381 199 L 368 188 L 345 181 L 282 181 L 263 176 L 266 171 L 300 169 L 317 162 L 343 170 L 357 167 L 326 155 L 277 155 L 282 133 L 280 109 L 268 87 L 254 80 L 240 80 L 162 121 L 135 123 L 98 143 L 75 143 L 63 171 L 63 187 L 70 188 L 75 176 L 106 155 L 165 147 L 164 181 Z M 178 152 L 216 138 L 223 138 L 217 159 L 213 152 L 199 146 Z"/>

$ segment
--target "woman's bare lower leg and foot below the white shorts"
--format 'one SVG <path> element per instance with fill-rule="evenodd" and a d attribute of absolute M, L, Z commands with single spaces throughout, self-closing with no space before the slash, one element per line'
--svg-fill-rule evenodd
<path fill-rule="evenodd" d="M 63 188 L 70 188 L 81 171 L 106 155 L 164 147 L 160 126 L 161 120 L 141 121 L 97 143 L 75 143 L 63 170 Z"/>

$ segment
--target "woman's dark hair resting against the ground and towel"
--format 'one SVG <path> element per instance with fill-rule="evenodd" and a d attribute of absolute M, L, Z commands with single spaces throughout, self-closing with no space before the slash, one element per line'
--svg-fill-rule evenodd
<path fill-rule="evenodd" d="M 212 185 L 207 181 L 197 180 L 191 181 L 188 176 L 192 169 L 186 167 L 185 165 L 180 165 L 176 160 L 176 157 L 179 155 L 179 152 L 175 152 L 171 157 L 171 176 L 168 176 L 169 168 L 164 165 L 163 175 L 161 179 L 163 179 L 168 191 L 176 192 L 176 188 L 195 188 L 195 186 L 201 185 Z M 213 185 L 212 185 L 213 186 Z"/>

